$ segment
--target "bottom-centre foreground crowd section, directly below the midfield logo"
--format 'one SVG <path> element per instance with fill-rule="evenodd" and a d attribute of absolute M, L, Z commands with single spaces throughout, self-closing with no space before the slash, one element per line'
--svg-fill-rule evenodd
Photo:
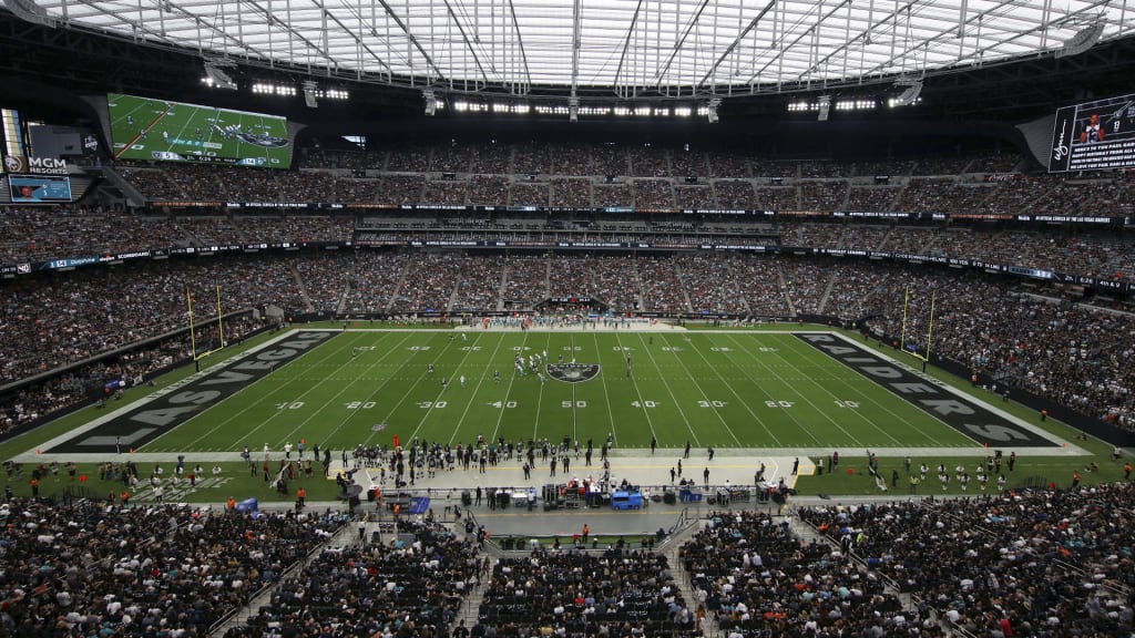
<path fill-rule="evenodd" d="M 538 548 L 497 561 L 478 624 L 474 636 L 501 638 L 701 635 L 698 611 L 682 597 L 667 559 L 617 547 L 602 554 Z"/>

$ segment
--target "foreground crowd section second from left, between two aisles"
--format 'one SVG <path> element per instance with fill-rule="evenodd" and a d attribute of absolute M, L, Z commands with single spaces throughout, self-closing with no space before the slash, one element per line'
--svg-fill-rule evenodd
<path fill-rule="evenodd" d="M 386 543 L 323 547 L 226 638 L 451 636 L 480 578 L 479 546 L 431 521 L 396 526 Z"/>

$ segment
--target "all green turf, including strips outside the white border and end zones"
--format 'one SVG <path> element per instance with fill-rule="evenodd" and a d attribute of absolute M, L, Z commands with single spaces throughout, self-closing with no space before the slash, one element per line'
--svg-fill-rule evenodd
<path fill-rule="evenodd" d="M 378 325 L 376 325 L 378 326 Z M 880 454 L 880 471 L 890 477 L 902 471 L 902 459 L 913 456 L 915 467 L 939 463 L 967 468 L 991 452 L 981 436 L 951 425 L 941 414 L 919 408 L 913 397 L 888 389 L 813 345 L 788 327 L 737 330 L 658 331 L 480 331 L 407 329 L 338 330 L 338 326 L 314 326 L 327 338 L 319 345 L 272 369 L 259 380 L 235 389 L 226 398 L 186 414 L 182 422 L 161 429 L 140 442 L 136 457 L 145 468 L 171 461 L 177 455 L 204 461 L 224 470 L 224 481 L 184 490 L 184 501 L 224 501 L 232 494 L 259 494 L 281 498 L 250 476 L 235 454 L 247 445 L 259 452 L 266 444 L 279 451 L 284 443 L 303 439 L 338 451 L 356 445 L 386 444 L 395 436 L 402 442 L 419 437 L 429 442 L 469 443 L 545 438 L 558 443 L 564 437 L 592 439 L 596 447 L 611 435 L 615 455 L 647 454 L 651 437 L 658 447 L 681 448 L 687 442 L 700 448 L 715 447 L 723 455 L 746 459 L 809 456 L 843 452 L 841 472 L 802 476 L 801 494 L 827 493 L 878 495 L 866 477 L 861 452 Z M 393 329 L 392 329 L 393 328 Z M 301 327 L 301 330 L 308 327 Z M 303 333 L 297 333 L 303 334 Z M 815 334 L 815 333 L 813 333 Z M 838 331 L 836 331 L 838 334 Z M 463 336 L 464 335 L 464 336 Z M 131 459 L 127 450 L 89 448 L 76 453 L 83 436 L 106 435 L 101 430 L 119 410 L 152 406 L 155 397 L 193 392 L 193 384 L 232 373 L 239 362 L 278 347 L 279 334 L 261 335 L 226 349 L 201 362 L 204 373 L 194 376 L 192 366 L 155 380 L 153 387 L 131 388 L 109 410 L 83 408 L 47 426 L 0 443 L 0 457 L 24 464 L 73 461 L 76 478 L 60 476 L 42 484 L 41 495 L 59 495 L 61 489 L 83 484 L 99 490 L 112 484 L 95 480 L 98 463 Z M 294 338 L 284 336 L 284 339 Z M 917 363 L 891 349 L 867 344 L 855 335 L 838 342 L 861 349 L 864 356 L 897 360 L 896 367 L 913 371 Z M 578 370 L 598 370 L 590 380 L 565 383 L 549 378 L 539 367 L 544 383 L 514 368 L 518 354 L 547 352 L 546 361 L 557 364 L 572 359 Z M 244 358 L 244 359 L 242 359 Z M 630 373 L 628 373 L 628 358 Z M 429 371 L 432 366 L 434 371 Z M 910 368 L 907 368 L 910 367 Z M 494 371 L 499 371 L 499 381 Z M 587 373 L 580 372 L 586 377 Z M 1123 461 L 1112 461 L 1111 447 L 1098 440 L 1079 440 L 1076 431 L 1048 420 L 1015 402 L 935 370 L 920 378 L 945 388 L 976 406 L 994 409 L 1008 427 L 1027 428 L 1046 445 L 1018 447 L 1023 454 L 1010 487 L 1035 484 L 1037 478 L 1065 486 L 1074 471 L 1083 484 L 1120 480 Z M 460 378 L 465 377 L 462 387 Z M 442 387 L 442 379 L 447 386 Z M 93 427 L 92 427 L 93 426 Z M 998 427 L 983 425 L 980 433 L 998 435 Z M 109 437 L 114 440 L 114 437 Z M 62 442 L 62 443 L 60 443 Z M 1067 447 L 1065 446 L 1067 442 Z M 1000 444 L 995 445 L 1001 447 Z M 42 450 L 43 455 L 40 455 Z M 81 451 L 82 452 L 82 451 Z M 108 453 L 109 452 L 109 453 Z M 1087 472 L 1093 463 L 1099 471 Z M 844 472 L 852 469 L 855 475 Z M 863 478 L 859 478 L 863 477 Z M 9 477 L 17 495 L 28 494 L 27 472 Z M 208 482 L 208 481 L 207 481 Z M 334 481 L 304 481 L 312 500 L 331 500 Z M 903 484 L 896 496 L 906 494 Z M 949 492 L 959 493 L 955 482 Z M 919 494 L 940 493 L 936 484 Z M 287 498 L 287 497 L 283 497 Z"/>

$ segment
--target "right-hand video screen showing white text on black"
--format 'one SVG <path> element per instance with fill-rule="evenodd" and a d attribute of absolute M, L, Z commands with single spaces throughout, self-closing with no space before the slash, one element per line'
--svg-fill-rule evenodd
<path fill-rule="evenodd" d="M 1135 167 L 1135 95 L 1063 107 L 1052 129 L 1049 171 Z"/>

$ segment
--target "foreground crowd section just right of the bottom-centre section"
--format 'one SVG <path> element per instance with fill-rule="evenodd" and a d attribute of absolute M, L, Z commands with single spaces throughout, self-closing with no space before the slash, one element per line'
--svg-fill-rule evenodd
<path fill-rule="evenodd" d="M 764 512 L 714 514 L 679 560 L 726 636 L 944 636 L 885 580 Z"/>

